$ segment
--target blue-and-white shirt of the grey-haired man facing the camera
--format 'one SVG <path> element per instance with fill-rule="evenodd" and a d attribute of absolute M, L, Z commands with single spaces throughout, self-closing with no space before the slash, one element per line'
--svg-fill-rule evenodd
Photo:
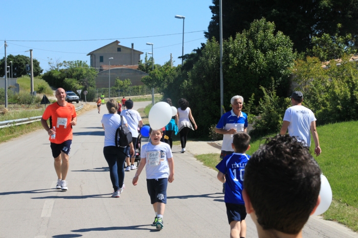
<path fill-rule="evenodd" d="M 236 131 L 243 131 L 244 128 L 248 127 L 248 115 L 241 111 L 240 115 L 235 115 L 234 111 L 228 111 L 223 114 L 220 118 L 219 123 L 216 125 L 218 129 L 226 129 L 230 130 L 231 128 L 235 128 Z M 223 135 L 222 139 L 222 151 L 234 151 L 231 147 L 231 143 L 233 142 L 233 137 L 230 134 Z"/>

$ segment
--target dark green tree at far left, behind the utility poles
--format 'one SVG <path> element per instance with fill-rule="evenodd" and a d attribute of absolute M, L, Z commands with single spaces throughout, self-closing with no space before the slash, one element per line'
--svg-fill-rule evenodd
<path fill-rule="evenodd" d="M 12 75 L 14 78 L 19 78 L 23 75 L 30 75 L 29 71 L 26 71 L 26 64 L 30 65 L 30 57 L 25 55 L 8 55 L 6 58 L 7 66 L 10 66 L 10 77 L 11 77 L 11 63 L 12 61 Z M 33 59 L 33 72 L 34 77 L 39 76 L 43 69 L 40 67 L 40 62 L 38 60 Z M 5 57 L 0 60 L 0 77 L 5 76 Z"/>

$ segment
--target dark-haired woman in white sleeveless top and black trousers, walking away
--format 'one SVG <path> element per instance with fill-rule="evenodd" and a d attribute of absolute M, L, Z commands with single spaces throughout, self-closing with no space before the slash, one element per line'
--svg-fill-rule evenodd
<path fill-rule="evenodd" d="M 185 152 L 185 146 L 187 144 L 187 136 L 191 130 L 194 130 L 190 121 L 194 124 L 195 130 L 197 129 L 196 123 L 194 121 L 194 117 L 191 114 L 191 110 L 189 108 L 189 102 L 185 99 L 180 99 L 178 101 L 178 112 L 177 116 L 179 118 L 178 128 L 180 133 L 180 143 L 182 145 L 182 153 Z"/>

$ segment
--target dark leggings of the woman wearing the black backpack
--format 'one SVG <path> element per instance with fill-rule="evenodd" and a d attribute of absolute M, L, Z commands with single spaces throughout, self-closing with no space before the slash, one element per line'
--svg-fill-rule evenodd
<path fill-rule="evenodd" d="M 125 149 L 115 146 L 103 147 L 103 155 L 109 166 L 109 177 L 115 192 L 123 186 L 124 182 Z"/>

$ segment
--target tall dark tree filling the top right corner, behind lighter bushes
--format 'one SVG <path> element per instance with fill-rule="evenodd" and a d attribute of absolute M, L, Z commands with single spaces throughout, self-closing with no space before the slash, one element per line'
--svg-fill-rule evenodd
<path fill-rule="evenodd" d="M 213 16 L 205 36 L 218 39 L 219 0 L 212 3 L 210 9 Z M 235 37 L 237 32 L 249 29 L 252 21 L 262 17 L 275 22 L 277 30 L 289 36 L 299 52 L 311 49 L 310 39 L 324 33 L 358 37 L 358 1 L 223 0 L 223 38 Z"/>

